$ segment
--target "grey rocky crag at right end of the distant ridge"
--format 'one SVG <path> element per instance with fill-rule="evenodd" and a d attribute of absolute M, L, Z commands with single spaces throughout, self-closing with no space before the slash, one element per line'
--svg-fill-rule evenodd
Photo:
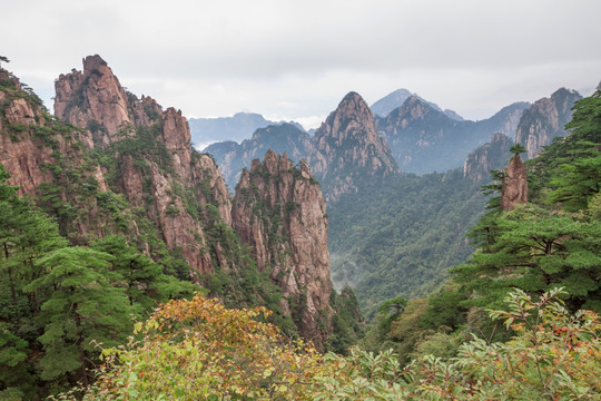
<path fill-rule="evenodd" d="M 565 136 L 565 124 L 572 119 L 572 106 L 582 99 L 575 90 L 561 88 L 551 97 L 534 102 L 520 119 L 515 133 L 515 143 L 528 150 L 528 158 L 533 158 L 554 137 Z"/>

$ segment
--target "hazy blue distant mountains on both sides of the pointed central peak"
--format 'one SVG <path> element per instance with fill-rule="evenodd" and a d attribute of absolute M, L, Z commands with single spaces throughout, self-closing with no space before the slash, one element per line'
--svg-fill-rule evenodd
<path fill-rule="evenodd" d="M 377 136 L 386 143 L 400 170 L 415 174 L 445 172 L 463 166 L 470 153 L 486 144 L 493 134 L 504 134 L 524 145 L 529 141 L 529 154 L 541 150 L 552 137 L 566 134 L 562 127 L 570 118 L 571 106 L 580 98 L 573 90 L 559 89 L 534 105 L 514 102 L 490 118 L 472 121 L 452 118 L 436 105 L 400 89 L 376 101 L 372 110 L 375 108 L 384 114 L 402 101 L 400 106 L 385 117 L 373 114 L 363 124 L 373 119 Z M 306 158 L 321 178 L 326 156 L 316 146 L 319 141 L 316 137 L 317 134 L 312 137 L 300 129 L 280 125 L 279 128 L 273 126 L 256 130 L 252 138 L 240 144 L 216 143 L 204 151 L 215 157 L 230 189 L 239 177 L 240 168 L 248 167 L 253 157 L 268 148 L 286 151 L 294 160 Z M 324 187 L 324 190 L 327 197 L 328 189 Z"/>

